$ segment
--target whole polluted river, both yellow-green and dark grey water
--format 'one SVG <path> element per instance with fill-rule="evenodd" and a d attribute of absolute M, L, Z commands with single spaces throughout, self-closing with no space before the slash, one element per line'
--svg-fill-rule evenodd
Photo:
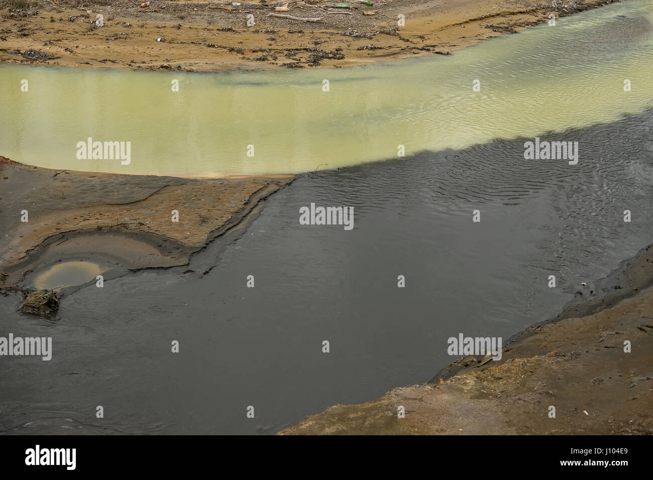
<path fill-rule="evenodd" d="M 54 345 L 3 364 L 0 431 L 274 434 L 428 381 L 456 359 L 451 336 L 505 341 L 553 317 L 652 242 L 651 65 L 653 0 L 329 71 L 0 66 L 0 153 L 16 161 L 297 174 L 186 265 L 43 265 L 24 285 L 73 287 L 54 318 L 0 296 L 3 332 Z M 10 95 L 22 78 L 35 93 Z M 79 159 L 88 138 L 131 140 L 129 163 Z M 577 142 L 577 158 L 526 159 L 535 138 Z M 300 225 L 311 204 L 353 208 L 353 228 Z"/>

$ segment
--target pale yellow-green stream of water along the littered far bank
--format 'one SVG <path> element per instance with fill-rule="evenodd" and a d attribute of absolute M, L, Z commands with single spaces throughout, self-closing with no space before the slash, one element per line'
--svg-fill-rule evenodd
<path fill-rule="evenodd" d="M 650 106 L 652 24 L 653 0 L 629 0 L 453 56 L 347 69 L 193 74 L 3 65 L 0 155 L 71 170 L 221 176 L 356 165 L 397 157 L 399 145 L 410 155 L 532 138 Z M 180 91 L 172 91 L 173 80 Z M 481 91 L 473 91 L 474 80 Z M 76 144 L 88 137 L 131 142 L 129 165 L 78 159 Z"/>

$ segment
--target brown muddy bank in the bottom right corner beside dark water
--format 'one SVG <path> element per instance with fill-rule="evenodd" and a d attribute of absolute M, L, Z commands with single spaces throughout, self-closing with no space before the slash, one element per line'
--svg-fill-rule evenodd
<path fill-rule="evenodd" d="M 462 359 L 434 383 L 332 406 L 279 434 L 653 434 L 652 246 L 624 266 L 597 282 L 607 295 L 518 334 L 499 361 Z"/>

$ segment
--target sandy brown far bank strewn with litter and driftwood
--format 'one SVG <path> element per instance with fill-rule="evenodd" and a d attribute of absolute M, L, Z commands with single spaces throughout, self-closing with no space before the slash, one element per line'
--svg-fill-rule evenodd
<path fill-rule="evenodd" d="M 142 70 L 343 67 L 453 50 L 613 0 L 3 2 L 0 62 Z M 18 7 L 18 8 L 17 8 Z M 366 14 L 367 12 L 367 14 Z M 372 13 L 374 12 L 374 13 Z M 255 25 L 247 26 L 247 15 Z M 268 16 L 319 18 L 315 22 Z M 398 26 L 398 15 L 405 25 Z M 103 16 L 103 26 L 96 24 Z M 160 39 L 160 40 L 159 40 Z"/>

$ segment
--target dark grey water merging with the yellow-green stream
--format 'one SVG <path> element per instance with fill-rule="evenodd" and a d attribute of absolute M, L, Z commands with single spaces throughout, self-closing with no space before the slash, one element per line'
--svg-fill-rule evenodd
<path fill-rule="evenodd" d="M 652 132 L 648 110 L 541 135 L 578 165 L 524 160 L 525 138 L 309 174 L 189 266 L 82 287 L 56 321 L 0 297 L 3 330 L 54 344 L 2 360 L 0 430 L 272 434 L 427 381 L 449 336 L 507 339 L 651 242 Z M 354 229 L 299 225 L 311 202 L 353 206 Z"/>

